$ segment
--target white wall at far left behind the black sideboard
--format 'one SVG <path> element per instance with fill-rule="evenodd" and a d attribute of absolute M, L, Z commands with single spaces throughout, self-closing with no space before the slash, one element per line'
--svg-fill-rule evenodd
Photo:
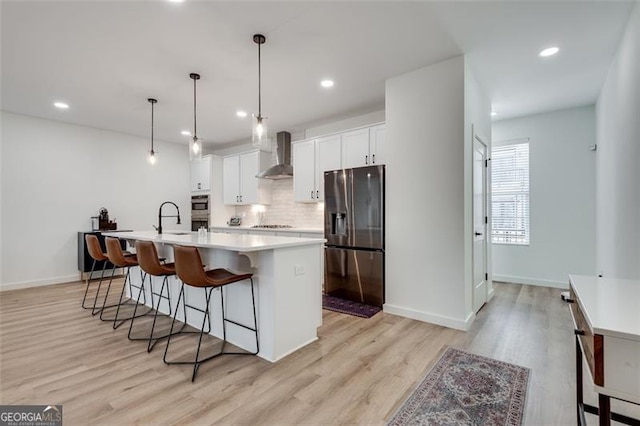
<path fill-rule="evenodd" d="M 2 113 L 2 276 L 0 288 L 77 280 L 77 232 L 109 210 L 118 229 L 151 230 L 158 207 L 180 206 L 190 224 L 185 146 L 156 143 L 88 127 Z"/>

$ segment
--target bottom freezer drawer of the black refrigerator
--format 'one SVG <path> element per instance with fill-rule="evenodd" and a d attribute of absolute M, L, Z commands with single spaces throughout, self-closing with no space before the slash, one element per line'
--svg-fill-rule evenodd
<path fill-rule="evenodd" d="M 382 307 L 384 252 L 325 248 L 325 293 Z"/>

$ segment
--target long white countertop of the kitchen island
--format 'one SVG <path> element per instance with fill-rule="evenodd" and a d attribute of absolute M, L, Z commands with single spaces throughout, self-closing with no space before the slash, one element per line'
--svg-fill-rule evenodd
<path fill-rule="evenodd" d="M 272 235 L 218 234 L 209 232 L 199 236 L 197 232 L 164 231 L 158 235 L 156 231 L 103 232 L 107 237 L 125 240 L 153 241 L 161 244 L 178 244 L 204 248 L 252 252 L 271 250 L 283 247 L 324 244 L 324 238 L 294 238 Z"/>

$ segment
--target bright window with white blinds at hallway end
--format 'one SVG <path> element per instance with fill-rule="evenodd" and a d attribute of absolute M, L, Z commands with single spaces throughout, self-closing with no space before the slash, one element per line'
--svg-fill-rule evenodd
<path fill-rule="evenodd" d="M 529 244 L 529 139 L 491 149 L 491 242 Z"/>

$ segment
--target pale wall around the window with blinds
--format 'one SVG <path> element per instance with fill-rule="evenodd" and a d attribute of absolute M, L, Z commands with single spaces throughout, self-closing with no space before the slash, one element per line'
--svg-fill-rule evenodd
<path fill-rule="evenodd" d="M 594 275 L 594 107 L 498 121 L 492 131 L 494 143 L 530 138 L 531 215 L 528 246 L 492 245 L 493 279 L 567 288 L 569 274 Z"/>

